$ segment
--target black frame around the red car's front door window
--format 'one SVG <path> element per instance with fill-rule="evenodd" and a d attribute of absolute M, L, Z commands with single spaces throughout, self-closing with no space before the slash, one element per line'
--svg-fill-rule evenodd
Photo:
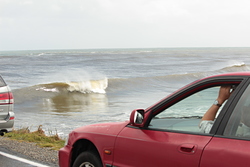
<path fill-rule="evenodd" d="M 222 108 L 218 118 L 216 119 L 215 123 L 210 131 L 210 133 L 197 133 L 197 132 L 189 132 L 189 131 L 177 131 L 177 130 L 164 130 L 164 129 L 154 129 L 150 127 L 150 122 L 154 116 L 161 113 L 162 111 L 166 110 L 167 108 L 171 107 L 172 105 L 178 103 L 179 101 L 185 99 L 188 96 L 191 96 L 199 91 L 202 91 L 207 88 L 215 87 L 215 86 L 221 86 L 221 85 L 229 85 L 229 84 L 235 84 L 240 83 L 239 85 L 242 85 L 246 82 L 246 77 L 242 76 L 234 76 L 234 77 L 216 77 L 216 78 L 208 78 L 206 80 L 199 81 L 194 84 L 190 84 L 187 87 L 184 87 L 183 89 L 177 91 L 175 94 L 172 94 L 171 96 L 167 97 L 166 99 L 162 100 L 160 103 L 156 104 L 152 108 L 150 108 L 150 116 L 146 121 L 145 128 L 150 130 L 156 130 L 156 131 L 170 131 L 170 132 L 177 132 L 177 133 L 186 133 L 186 134 L 198 134 L 198 135 L 216 135 L 217 129 L 220 125 L 220 122 L 222 121 L 221 118 L 224 117 L 225 113 L 227 113 L 228 105 L 231 103 L 234 99 L 233 93 L 232 97 L 228 99 L 228 102 L 225 104 L 225 106 Z M 241 86 L 240 86 L 241 87 Z M 240 87 L 237 89 L 239 90 Z M 215 97 L 216 98 L 216 97 Z M 198 126 L 198 125 L 197 125 Z"/>

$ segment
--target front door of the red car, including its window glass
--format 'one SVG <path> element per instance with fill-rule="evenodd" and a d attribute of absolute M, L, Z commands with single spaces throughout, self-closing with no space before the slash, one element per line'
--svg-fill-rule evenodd
<path fill-rule="evenodd" d="M 149 123 L 145 127 L 127 126 L 120 132 L 113 165 L 198 167 L 203 149 L 214 135 L 200 132 L 199 123 L 218 90 L 218 82 L 209 81 L 190 86 L 152 107 L 146 113 Z"/>

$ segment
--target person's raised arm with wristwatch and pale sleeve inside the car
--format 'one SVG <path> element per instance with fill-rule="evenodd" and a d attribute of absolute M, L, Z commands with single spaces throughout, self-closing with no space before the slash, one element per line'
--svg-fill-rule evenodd
<path fill-rule="evenodd" d="M 221 86 L 219 90 L 218 98 L 215 100 L 214 104 L 207 110 L 203 115 L 199 128 L 203 133 L 209 133 L 215 120 L 215 116 L 222 106 L 222 104 L 230 97 L 232 91 L 231 86 Z"/>

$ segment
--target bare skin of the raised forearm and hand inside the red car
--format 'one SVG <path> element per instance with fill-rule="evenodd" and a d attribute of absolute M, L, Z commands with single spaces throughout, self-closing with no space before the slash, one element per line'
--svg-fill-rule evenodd
<path fill-rule="evenodd" d="M 231 94 L 230 89 L 231 89 L 231 86 L 221 86 L 219 95 L 217 98 L 219 105 L 222 105 L 229 98 Z M 202 117 L 202 120 L 213 121 L 220 108 L 219 105 L 213 104 L 204 114 L 204 116 Z"/>

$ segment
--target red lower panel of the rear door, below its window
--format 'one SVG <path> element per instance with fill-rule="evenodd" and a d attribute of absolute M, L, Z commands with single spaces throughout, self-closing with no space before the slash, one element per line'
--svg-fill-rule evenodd
<path fill-rule="evenodd" d="M 249 167 L 249 140 L 214 137 L 205 148 L 201 167 Z"/>

